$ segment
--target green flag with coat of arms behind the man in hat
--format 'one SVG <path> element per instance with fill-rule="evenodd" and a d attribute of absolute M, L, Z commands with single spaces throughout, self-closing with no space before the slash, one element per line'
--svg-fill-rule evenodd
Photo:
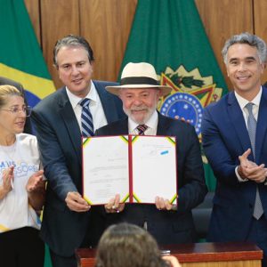
<path fill-rule="evenodd" d="M 138 1 L 121 70 L 141 61 L 155 67 L 160 84 L 173 88 L 159 103 L 160 112 L 189 119 L 201 142 L 202 111 L 227 89 L 193 0 Z M 204 155 L 203 161 L 207 186 L 214 190 Z"/>

